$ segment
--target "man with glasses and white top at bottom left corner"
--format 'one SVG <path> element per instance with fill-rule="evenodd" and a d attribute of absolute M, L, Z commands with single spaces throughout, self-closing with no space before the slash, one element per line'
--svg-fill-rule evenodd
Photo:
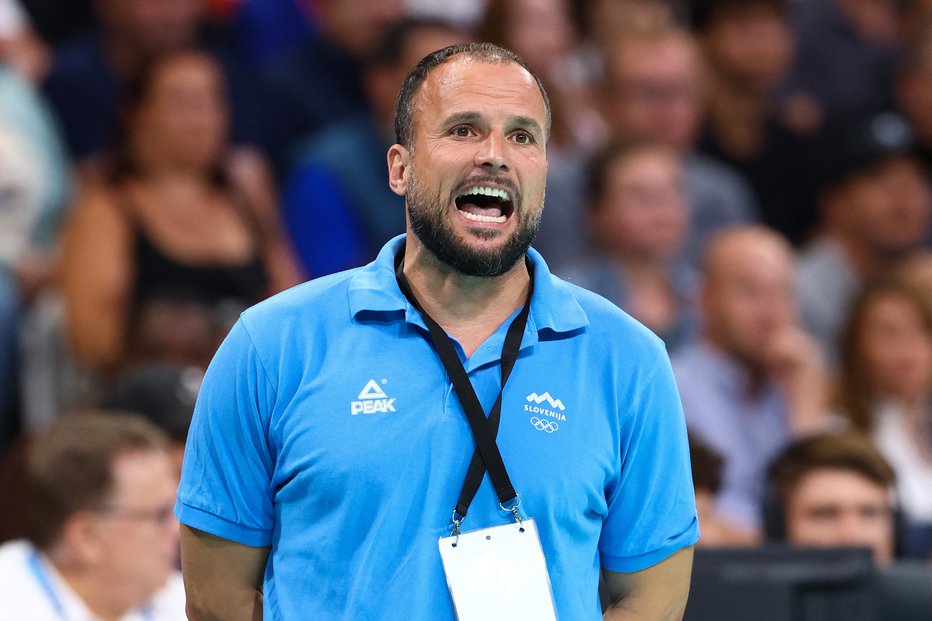
<path fill-rule="evenodd" d="M 178 478 L 166 439 L 125 414 L 63 416 L 31 444 L 28 536 L 0 546 L 0 620 L 182 621 Z"/>

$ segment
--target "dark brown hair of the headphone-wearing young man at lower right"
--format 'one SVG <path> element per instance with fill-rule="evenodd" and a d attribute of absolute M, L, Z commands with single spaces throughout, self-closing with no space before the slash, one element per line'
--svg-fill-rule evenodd
<path fill-rule="evenodd" d="M 856 431 L 820 434 L 790 445 L 770 466 L 768 481 L 785 508 L 806 476 L 828 469 L 854 472 L 887 489 L 896 482 L 896 473 L 880 449 Z"/>

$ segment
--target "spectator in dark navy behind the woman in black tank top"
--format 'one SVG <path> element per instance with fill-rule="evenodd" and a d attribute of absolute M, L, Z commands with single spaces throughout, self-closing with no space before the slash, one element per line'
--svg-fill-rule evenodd
<path fill-rule="evenodd" d="M 58 48 L 45 90 L 71 156 L 83 174 L 117 140 L 118 100 L 156 57 L 200 46 L 221 62 L 231 102 L 236 144 L 277 154 L 283 140 L 278 103 L 260 76 L 237 62 L 226 40 L 201 24 L 202 0 L 95 0 L 100 27 Z"/>

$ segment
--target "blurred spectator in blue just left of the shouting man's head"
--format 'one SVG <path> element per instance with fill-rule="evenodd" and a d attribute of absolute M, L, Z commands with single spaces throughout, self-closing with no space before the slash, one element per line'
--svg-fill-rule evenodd
<path fill-rule="evenodd" d="M 369 109 L 334 122 L 296 149 L 282 209 L 309 275 L 371 261 L 382 245 L 404 232 L 404 200 L 385 182 L 398 89 L 421 58 L 465 38 L 436 20 L 393 25 L 363 72 Z"/>

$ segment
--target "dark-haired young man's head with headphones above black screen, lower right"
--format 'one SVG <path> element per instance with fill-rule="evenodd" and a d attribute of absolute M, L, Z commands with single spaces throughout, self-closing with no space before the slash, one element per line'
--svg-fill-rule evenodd
<path fill-rule="evenodd" d="M 789 446 L 771 465 L 767 535 L 809 547 L 865 547 L 893 560 L 896 476 L 859 433 L 823 434 Z"/>

